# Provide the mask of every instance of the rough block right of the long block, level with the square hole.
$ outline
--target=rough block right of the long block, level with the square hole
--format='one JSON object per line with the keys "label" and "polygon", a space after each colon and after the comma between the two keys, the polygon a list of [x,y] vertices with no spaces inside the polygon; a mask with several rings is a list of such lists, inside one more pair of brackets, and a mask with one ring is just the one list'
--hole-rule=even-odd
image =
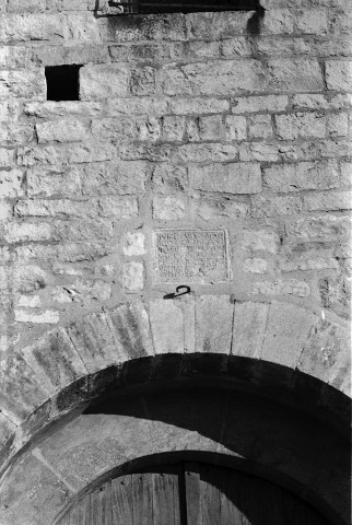
{"label": "rough block right of the long block, level with the square hole", "polygon": [[296,92],[324,90],[322,72],[318,60],[269,60],[267,74],[267,85],[272,90]]}

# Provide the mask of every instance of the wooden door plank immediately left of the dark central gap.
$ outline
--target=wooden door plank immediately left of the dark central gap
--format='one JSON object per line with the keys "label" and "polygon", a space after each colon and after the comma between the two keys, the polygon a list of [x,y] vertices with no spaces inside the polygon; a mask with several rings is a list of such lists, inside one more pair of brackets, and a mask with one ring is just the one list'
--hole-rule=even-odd
{"label": "wooden door plank immediately left of the dark central gap", "polygon": [[167,467],[153,474],[153,525],[180,525],[179,467]]}

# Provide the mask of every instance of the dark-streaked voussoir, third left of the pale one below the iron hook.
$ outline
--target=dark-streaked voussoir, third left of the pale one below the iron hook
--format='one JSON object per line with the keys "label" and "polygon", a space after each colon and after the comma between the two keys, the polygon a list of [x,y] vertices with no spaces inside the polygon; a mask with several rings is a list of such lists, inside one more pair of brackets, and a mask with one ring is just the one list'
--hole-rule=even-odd
{"label": "dark-streaked voussoir, third left of the pale one below the iron hook", "polygon": [[62,328],[24,348],[22,354],[51,394],[86,374],[79,353]]}

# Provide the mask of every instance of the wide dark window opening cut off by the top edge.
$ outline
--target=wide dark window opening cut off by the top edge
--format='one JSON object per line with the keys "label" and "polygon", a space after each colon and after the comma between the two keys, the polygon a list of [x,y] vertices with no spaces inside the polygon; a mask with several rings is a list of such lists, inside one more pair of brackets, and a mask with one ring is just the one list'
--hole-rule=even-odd
{"label": "wide dark window opening cut off by the top edge", "polygon": [[193,13],[199,11],[257,11],[258,0],[110,0],[124,14]]}

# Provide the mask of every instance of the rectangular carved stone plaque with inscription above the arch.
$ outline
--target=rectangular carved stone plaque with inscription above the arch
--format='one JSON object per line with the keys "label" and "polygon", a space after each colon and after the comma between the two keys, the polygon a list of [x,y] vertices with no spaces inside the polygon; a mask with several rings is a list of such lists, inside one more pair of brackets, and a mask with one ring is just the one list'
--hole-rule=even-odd
{"label": "rectangular carved stone plaque with inscription above the arch", "polygon": [[154,232],[157,282],[222,282],[228,279],[226,232],[160,230]]}

